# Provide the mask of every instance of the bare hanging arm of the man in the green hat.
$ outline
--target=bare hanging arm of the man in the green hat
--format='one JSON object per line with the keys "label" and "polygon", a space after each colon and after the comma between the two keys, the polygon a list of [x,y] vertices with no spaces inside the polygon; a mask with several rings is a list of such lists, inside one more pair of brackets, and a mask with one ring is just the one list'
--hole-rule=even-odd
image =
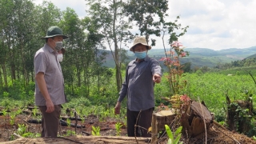
{"label": "bare hanging arm of the man in the green hat", "polygon": [[36,82],[38,83],[38,88],[42,93],[43,98],[46,99],[46,113],[51,113],[54,111],[54,103],[50,99],[50,95],[48,93],[47,87],[46,87],[46,81],[44,78],[44,74],[42,72],[39,72],[35,75]]}

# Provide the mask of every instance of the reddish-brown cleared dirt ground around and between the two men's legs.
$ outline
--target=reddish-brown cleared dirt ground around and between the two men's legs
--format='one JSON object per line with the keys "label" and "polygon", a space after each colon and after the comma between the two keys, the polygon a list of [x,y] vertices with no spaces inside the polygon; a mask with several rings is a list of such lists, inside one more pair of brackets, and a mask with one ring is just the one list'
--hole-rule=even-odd
{"label": "reddish-brown cleared dirt ground around and between the two men's legs", "polygon": [[[32,133],[40,133],[41,132],[41,124],[36,123],[29,123],[26,120],[30,119],[29,115],[27,114],[19,114],[15,118],[15,124],[13,126],[10,125],[10,117],[0,115],[0,142],[6,142],[11,140],[11,135],[14,133],[17,134],[18,124],[25,124],[28,126],[28,131]],[[71,123],[75,123],[74,120]],[[82,125],[84,127],[77,128],[76,134],[79,135],[90,135],[91,134],[91,127],[100,127],[100,134],[102,136],[116,136],[116,129],[115,129],[114,119],[109,118],[108,121],[100,122],[98,118],[94,115],[90,115],[86,118],[86,120],[82,123],[82,121],[78,121],[78,125]],[[73,126],[60,126],[59,127],[60,135],[63,136],[67,133],[67,130],[75,131]],[[122,132],[120,136],[126,136],[126,127],[122,126]],[[18,137],[14,137],[15,139]]]}

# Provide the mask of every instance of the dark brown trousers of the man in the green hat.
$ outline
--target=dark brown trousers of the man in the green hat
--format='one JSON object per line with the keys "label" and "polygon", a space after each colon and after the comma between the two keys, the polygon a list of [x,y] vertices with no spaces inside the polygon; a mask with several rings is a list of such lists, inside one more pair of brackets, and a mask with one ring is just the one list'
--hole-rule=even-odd
{"label": "dark brown trousers of the man in the green hat", "polygon": [[61,105],[54,105],[54,111],[46,113],[46,106],[38,106],[42,113],[41,137],[57,137]]}

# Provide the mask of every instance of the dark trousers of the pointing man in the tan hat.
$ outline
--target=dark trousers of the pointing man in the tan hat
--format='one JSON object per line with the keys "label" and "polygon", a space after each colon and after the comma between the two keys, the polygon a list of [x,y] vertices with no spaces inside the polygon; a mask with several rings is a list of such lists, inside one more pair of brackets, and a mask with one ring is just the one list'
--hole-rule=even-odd
{"label": "dark trousers of the pointing man in the tan hat", "polygon": [[[127,134],[128,137],[134,137],[134,132],[136,137],[147,137],[150,138],[151,134],[147,133],[152,122],[152,114],[154,107],[148,110],[130,111],[127,109]],[[138,118],[138,120],[137,120]],[[136,123],[137,121],[137,123]],[[136,126],[136,131],[134,131],[134,126]]]}

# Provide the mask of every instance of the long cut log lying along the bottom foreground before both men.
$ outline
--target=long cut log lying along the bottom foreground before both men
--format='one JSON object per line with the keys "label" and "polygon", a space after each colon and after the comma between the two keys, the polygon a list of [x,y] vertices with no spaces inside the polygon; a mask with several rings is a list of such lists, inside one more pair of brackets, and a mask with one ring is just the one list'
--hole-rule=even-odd
{"label": "long cut log lying along the bottom foreground before both men", "polygon": [[114,136],[81,136],[74,135],[69,137],[57,137],[57,138],[18,138],[14,141],[9,142],[0,142],[0,144],[10,144],[10,143],[22,143],[22,144],[91,144],[91,143],[113,143],[113,144],[137,144],[142,143],[146,144],[149,141],[149,138],[136,138],[134,137],[114,137]]}

